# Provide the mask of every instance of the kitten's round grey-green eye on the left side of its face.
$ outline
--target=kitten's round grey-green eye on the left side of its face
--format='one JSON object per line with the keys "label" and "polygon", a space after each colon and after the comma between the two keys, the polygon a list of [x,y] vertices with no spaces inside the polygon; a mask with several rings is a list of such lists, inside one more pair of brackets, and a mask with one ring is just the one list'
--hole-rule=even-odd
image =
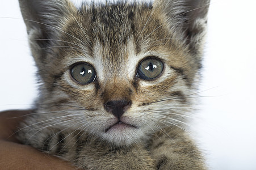
{"label": "kitten's round grey-green eye on the left side of its face", "polygon": [[88,63],[79,63],[70,69],[70,73],[75,81],[82,84],[91,83],[96,78],[93,66]]}

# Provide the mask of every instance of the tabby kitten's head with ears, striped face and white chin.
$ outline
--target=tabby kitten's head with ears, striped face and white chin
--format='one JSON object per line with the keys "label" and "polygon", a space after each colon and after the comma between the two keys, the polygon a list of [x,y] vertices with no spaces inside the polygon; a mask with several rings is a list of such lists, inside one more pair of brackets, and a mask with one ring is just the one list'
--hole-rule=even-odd
{"label": "tabby kitten's head with ears, striped face and white chin", "polygon": [[209,1],[19,2],[41,83],[37,112],[60,122],[47,124],[117,146],[183,126]]}

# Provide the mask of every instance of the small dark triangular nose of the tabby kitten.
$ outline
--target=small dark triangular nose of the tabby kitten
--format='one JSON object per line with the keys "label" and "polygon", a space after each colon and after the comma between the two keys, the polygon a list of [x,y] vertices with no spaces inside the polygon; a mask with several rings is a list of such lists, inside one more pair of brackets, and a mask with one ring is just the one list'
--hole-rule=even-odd
{"label": "small dark triangular nose of the tabby kitten", "polygon": [[115,117],[120,119],[125,111],[131,106],[131,101],[127,100],[112,100],[104,104],[104,108],[108,112],[112,112]]}

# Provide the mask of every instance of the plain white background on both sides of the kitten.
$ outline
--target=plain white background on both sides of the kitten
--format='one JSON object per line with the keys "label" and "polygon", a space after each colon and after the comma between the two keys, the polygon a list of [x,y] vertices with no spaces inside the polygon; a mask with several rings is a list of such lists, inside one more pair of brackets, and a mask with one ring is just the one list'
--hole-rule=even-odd
{"label": "plain white background on both sides of the kitten", "polygon": [[[256,1],[211,2],[192,129],[209,169],[256,169]],[[0,111],[30,108],[35,67],[18,1],[0,2]]]}

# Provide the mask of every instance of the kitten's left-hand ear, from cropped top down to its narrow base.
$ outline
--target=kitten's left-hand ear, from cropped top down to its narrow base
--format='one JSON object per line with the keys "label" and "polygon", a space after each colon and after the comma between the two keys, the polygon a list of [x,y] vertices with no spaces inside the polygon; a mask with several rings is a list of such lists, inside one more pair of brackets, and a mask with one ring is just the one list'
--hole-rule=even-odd
{"label": "kitten's left-hand ear, from cropped top down to its narrow base", "polygon": [[49,62],[47,47],[53,43],[49,39],[59,39],[65,20],[75,7],[69,0],[19,0],[19,5],[32,56],[39,70],[43,70]]}

